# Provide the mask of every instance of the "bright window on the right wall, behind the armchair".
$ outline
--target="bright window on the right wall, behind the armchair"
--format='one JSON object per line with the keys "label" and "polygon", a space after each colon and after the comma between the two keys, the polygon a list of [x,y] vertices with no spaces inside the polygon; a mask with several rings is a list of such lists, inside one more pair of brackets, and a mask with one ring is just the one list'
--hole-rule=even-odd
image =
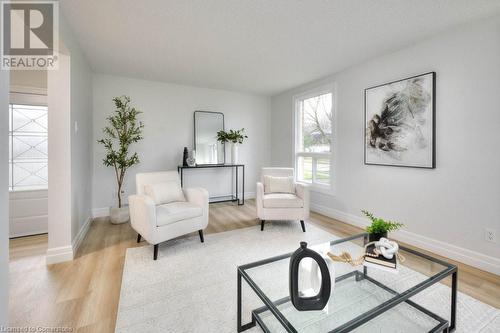
{"label": "bright window on the right wall, behind the armchair", "polygon": [[297,181],[332,190],[333,89],[295,99],[295,169]]}

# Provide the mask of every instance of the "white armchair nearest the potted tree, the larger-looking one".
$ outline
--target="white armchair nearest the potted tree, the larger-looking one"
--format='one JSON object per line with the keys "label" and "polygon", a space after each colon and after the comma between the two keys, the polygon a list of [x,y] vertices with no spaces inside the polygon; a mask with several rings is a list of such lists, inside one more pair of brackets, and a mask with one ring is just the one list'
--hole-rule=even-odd
{"label": "white armchair nearest the potted tree, the larger-looking one", "polygon": [[168,182],[176,185],[175,181],[180,184],[177,171],[138,173],[137,194],[129,196],[130,223],[138,233],[137,242],[139,243],[143,237],[154,245],[154,260],[158,257],[158,244],[169,239],[198,231],[201,242],[204,242],[203,229],[208,225],[207,190],[183,189],[186,201],[158,205],[151,196],[146,195],[148,185]]}

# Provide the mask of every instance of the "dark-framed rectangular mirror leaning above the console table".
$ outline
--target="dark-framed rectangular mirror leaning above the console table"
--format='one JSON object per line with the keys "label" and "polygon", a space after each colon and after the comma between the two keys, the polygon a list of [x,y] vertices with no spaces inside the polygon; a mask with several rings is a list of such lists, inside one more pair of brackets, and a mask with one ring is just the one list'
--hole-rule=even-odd
{"label": "dark-framed rectangular mirror leaning above the console table", "polygon": [[224,164],[224,144],[217,141],[217,132],[224,130],[224,114],[221,112],[194,112],[194,150],[196,164]]}

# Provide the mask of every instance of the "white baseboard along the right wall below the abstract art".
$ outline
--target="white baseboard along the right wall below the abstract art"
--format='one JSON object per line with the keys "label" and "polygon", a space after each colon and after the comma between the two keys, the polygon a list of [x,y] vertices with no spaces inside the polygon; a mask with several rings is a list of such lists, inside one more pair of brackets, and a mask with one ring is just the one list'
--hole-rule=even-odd
{"label": "white baseboard along the right wall below the abstract art", "polygon": [[[311,204],[311,210],[360,228],[365,228],[369,224],[368,221],[362,217],[345,213],[330,207]],[[391,237],[443,257],[500,275],[500,259],[498,258],[405,230],[391,233]]]}

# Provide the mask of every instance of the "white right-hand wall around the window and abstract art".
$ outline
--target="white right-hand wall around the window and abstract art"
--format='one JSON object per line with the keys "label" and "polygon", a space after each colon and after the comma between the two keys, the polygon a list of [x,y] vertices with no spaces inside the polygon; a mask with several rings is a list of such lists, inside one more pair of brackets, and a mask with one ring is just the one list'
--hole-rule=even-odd
{"label": "white right-hand wall around the window and abstract art", "polygon": [[[364,89],[435,71],[435,170],[363,164]],[[500,19],[445,32],[272,98],[272,163],[292,166],[292,96],[337,84],[336,195],[316,210],[363,224],[360,209],[406,224],[398,237],[500,274]],[[410,233],[408,233],[410,232]],[[443,243],[441,243],[443,242]]]}

